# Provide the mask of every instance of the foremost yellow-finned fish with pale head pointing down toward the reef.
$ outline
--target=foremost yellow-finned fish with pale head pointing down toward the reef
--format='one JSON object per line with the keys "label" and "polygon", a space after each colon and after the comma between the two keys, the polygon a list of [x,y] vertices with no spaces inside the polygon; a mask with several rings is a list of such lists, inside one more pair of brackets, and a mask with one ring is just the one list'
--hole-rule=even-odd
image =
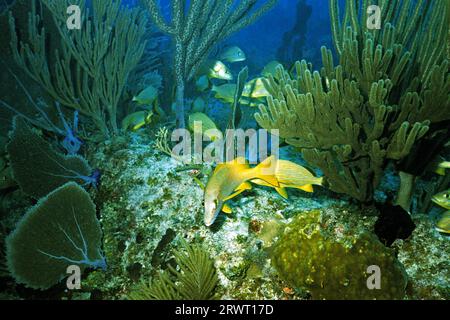
{"label": "foremost yellow-finned fish with pale head pointing down toward the reef", "polygon": [[205,187],[205,225],[211,226],[222,210],[226,213],[231,212],[225,202],[243,191],[251,189],[249,180],[260,179],[271,186],[278,187],[275,176],[264,172],[269,171],[270,166],[269,160],[250,168],[244,158],[218,164]]}

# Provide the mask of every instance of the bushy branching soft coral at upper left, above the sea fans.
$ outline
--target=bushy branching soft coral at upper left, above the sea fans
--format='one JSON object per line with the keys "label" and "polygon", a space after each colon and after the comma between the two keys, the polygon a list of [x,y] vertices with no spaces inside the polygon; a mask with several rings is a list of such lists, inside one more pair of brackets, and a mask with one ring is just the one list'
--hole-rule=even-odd
{"label": "bushy branching soft coral at upper left, above the sea fans", "polygon": [[[79,110],[103,136],[118,133],[117,109],[130,72],[144,52],[146,19],[120,1],[92,1],[86,16],[85,0],[43,0],[62,39],[54,65],[49,65],[49,37],[32,1],[28,34],[19,34],[10,14],[11,49],[17,64],[64,107]],[[67,28],[67,8],[81,8],[81,31]]]}

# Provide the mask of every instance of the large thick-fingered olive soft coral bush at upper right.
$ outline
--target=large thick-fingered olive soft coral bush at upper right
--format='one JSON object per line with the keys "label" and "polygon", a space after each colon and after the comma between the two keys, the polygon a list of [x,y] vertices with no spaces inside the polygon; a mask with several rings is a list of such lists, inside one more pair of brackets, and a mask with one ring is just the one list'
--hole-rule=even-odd
{"label": "large thick-fingered olive soft coral bush at upper right", "polygon": [[379,1],[383,28],[368,30],[366,7],[357,3],[346,2],[341,22],[330,0],[340,65],[322,48],[320,72],[306,61],[295,64],[295,75],[278,67],[255,118],[279,129],[333,191],[370,202],[387,160],[401,160],[430,123],[450,119],[449,24],[440,1]]}

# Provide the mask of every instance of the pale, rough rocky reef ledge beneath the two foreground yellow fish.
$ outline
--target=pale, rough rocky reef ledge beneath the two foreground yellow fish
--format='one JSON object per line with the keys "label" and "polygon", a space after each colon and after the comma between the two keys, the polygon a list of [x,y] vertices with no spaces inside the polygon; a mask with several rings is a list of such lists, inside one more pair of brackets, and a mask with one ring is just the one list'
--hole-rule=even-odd
{"label": "pale, rough rocky reef ledge beneath the two foreground yellow fish", "polygon": [[[148,135],[132,133],[107,141],[90,151],[89,161],[102,171],[94,197],[108,270],[90,272],[79,298],[127,298],[137,284],[148,283],[173,263],[171,252],[181,237],[202,243],[214,259],[219,298],[314,298],[311,290],[283,277],[279,266],[275,269],[282,260],[274,255],[282,247],[280,239],[292,232],[290,223],[314,217],[311,223],[324,231],[326,241],[351,247],[361,235],[371,234],[376,221],[375,209],[360,208],[324,189],[313,194],[290,189],[286,201],[273,190],[258,187],[236,198],[233,213],[221,214],[207,228],[202,222],[203,190],[191,172],[177,172],[179,163],[157,151]],[[406,272],[404,298],[448,299],[450,239],[435,231],[427,216],[414,221],[413,236],[387,249]],[[308,259],[319,259],[314,263],[320,264],[321,257],[313,256]],[[305,259],[298,257],[299,266]],[[274,260],[277,263],[271,263]]]}

